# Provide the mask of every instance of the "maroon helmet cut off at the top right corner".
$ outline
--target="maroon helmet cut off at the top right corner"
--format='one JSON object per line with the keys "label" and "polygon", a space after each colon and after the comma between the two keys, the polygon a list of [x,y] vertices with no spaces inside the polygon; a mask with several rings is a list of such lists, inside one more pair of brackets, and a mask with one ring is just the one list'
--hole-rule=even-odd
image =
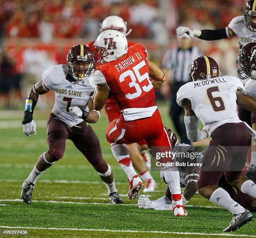
{"label": "maroon helmet cut off at the top right corner", "polygon": [[247,28],[256,31],[256,0],[247,1],[243,15]]}

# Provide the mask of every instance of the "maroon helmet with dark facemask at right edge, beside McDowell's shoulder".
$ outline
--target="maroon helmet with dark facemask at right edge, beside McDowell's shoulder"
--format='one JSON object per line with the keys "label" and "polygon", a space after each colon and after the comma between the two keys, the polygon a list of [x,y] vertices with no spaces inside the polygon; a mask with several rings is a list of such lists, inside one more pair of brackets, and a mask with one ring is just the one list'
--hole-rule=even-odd
{"label": "maroon helmet with dark facemask at right edge, beside McDowell's shoulder", "polygon": [[243,46],[237,57],[238,76],[241,79],[247,79],[251,76],[251,72],[256,70],[256,43],[248,43]]}

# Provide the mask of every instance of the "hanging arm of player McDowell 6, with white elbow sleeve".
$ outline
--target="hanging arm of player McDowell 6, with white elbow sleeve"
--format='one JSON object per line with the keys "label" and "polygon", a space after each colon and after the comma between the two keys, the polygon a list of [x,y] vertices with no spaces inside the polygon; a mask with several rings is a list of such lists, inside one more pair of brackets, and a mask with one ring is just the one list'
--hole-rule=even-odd
{"label": "hanging arm of player McDowell 6, with white elbow sleeve", "polygon": [[207,131],[199,130],[198,118],[191,109],[191,102],[188,99],[183,100],[184,105],[184,123],[189,141],[197,142],[205,139],[208,136]]}

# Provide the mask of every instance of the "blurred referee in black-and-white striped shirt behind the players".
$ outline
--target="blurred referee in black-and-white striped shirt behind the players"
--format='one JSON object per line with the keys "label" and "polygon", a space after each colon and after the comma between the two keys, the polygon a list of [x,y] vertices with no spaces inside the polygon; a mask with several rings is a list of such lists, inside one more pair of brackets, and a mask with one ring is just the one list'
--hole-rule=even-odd
{"label": "blurred referee in black-and-white striped shirt behind the players", "polygon": [[162,62],[162,68],[167,78],[172,72],[171,82],[171,108],[169,115],[171,116],[177,133],[181,138],[181,143],[190,144],[187,138],[184,121],[180,119],[180,115],[184,114],[184,110],[176,102],[177,92],[179,88],[189,82],[189,68],[192,61],[202,56],[202,52],[195,46],[192,46],[192,39],[185,33],[178,36],[179,47],[169,49]]}

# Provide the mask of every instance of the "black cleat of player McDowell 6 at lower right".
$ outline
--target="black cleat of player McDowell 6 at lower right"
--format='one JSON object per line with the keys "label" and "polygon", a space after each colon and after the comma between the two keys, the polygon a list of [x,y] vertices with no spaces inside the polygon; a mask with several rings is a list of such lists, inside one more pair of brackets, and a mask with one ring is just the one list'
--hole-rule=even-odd
{"label": "black cleat of player McDowell 6 at lower right", "polygon": [[246,209],[245,212],[234,215],[229,226],[223,231],[235,231],[238,230],[242,225],[249,223],[253,220],[253,215]]}

